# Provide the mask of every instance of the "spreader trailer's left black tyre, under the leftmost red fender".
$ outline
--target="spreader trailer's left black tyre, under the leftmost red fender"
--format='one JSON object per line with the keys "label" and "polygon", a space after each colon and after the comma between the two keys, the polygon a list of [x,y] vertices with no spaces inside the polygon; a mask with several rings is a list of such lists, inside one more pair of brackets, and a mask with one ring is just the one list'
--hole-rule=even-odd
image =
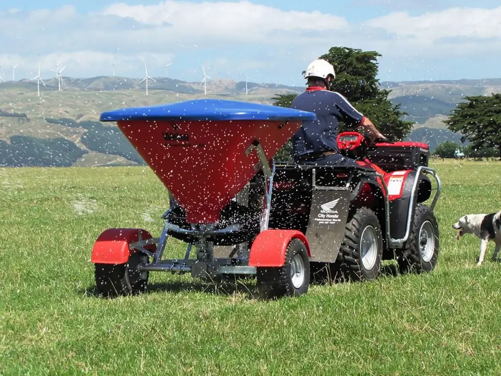
{"label": "spreader trailer's left black tyre, under the leftmost red fender", "polygon": [[147,263],[148,256],[136,252],[125,264],[95,264],[97,290],[105,296],[131,295],[146,291],[149,272],[138,272],[140,263]]}

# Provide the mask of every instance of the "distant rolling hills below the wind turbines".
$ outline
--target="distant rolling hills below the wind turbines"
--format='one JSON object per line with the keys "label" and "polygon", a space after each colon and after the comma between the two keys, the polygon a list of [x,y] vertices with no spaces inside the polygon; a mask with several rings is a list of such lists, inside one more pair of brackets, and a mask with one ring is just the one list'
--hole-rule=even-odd
{"label": "distant rolling hills below the wind turbines", "polygon": [[[20,80],[0,83],[0,166],[143,164],[142,158],[114,124],[99,122],[103,111],[205,98],[199,82],[155,77],[146,96],[141,79],[127,77],[63,77],[40,84]],[[501,92],[501,79],[382,82],[392,103],[415,122],[409,140],[459,143],[460,135],[442,122],[468,95]],[[280,93],[301,93],[304,86],[210,80],[207,97],[272,104]]]}

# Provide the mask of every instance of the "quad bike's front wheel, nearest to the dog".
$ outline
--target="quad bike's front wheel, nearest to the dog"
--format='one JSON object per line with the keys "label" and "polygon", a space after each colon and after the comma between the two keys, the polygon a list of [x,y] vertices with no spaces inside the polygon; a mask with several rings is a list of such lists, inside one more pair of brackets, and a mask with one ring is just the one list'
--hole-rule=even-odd
{"label": "quad bike's front wheel, nearest to the dog", "polygon": [[431,272],[438,261],[439,232],[433,211],[426,205],[418,204],[414,212],[409,243],[398,258],[401,274]]}

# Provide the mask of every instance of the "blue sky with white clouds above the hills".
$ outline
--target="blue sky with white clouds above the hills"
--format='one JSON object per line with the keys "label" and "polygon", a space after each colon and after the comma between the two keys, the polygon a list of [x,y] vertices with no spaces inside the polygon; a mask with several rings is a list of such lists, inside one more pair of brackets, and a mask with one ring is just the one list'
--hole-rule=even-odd
{"label": "blue sky with white clouds above the hills", "polygon": [[[335,7],[334,7],[335,5]],[[375,50],[379,79],[501,77],[496,0],[7,0],[0,6],[0,75],[165,75],[303,85],[332,46]]]}

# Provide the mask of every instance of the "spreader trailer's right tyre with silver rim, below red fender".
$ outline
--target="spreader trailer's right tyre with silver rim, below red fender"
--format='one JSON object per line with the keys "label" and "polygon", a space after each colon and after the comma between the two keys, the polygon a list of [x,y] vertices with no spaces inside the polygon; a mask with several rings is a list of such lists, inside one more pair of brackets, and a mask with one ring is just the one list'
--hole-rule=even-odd
{"label": "spreader trailer's right tyre with silver rim, below red fender", "polygon": [[292,239],[286,249],[284,266],[258,267],[256,277],[263,299],[306,294],[310,285],[310,258],[305,244]]}

